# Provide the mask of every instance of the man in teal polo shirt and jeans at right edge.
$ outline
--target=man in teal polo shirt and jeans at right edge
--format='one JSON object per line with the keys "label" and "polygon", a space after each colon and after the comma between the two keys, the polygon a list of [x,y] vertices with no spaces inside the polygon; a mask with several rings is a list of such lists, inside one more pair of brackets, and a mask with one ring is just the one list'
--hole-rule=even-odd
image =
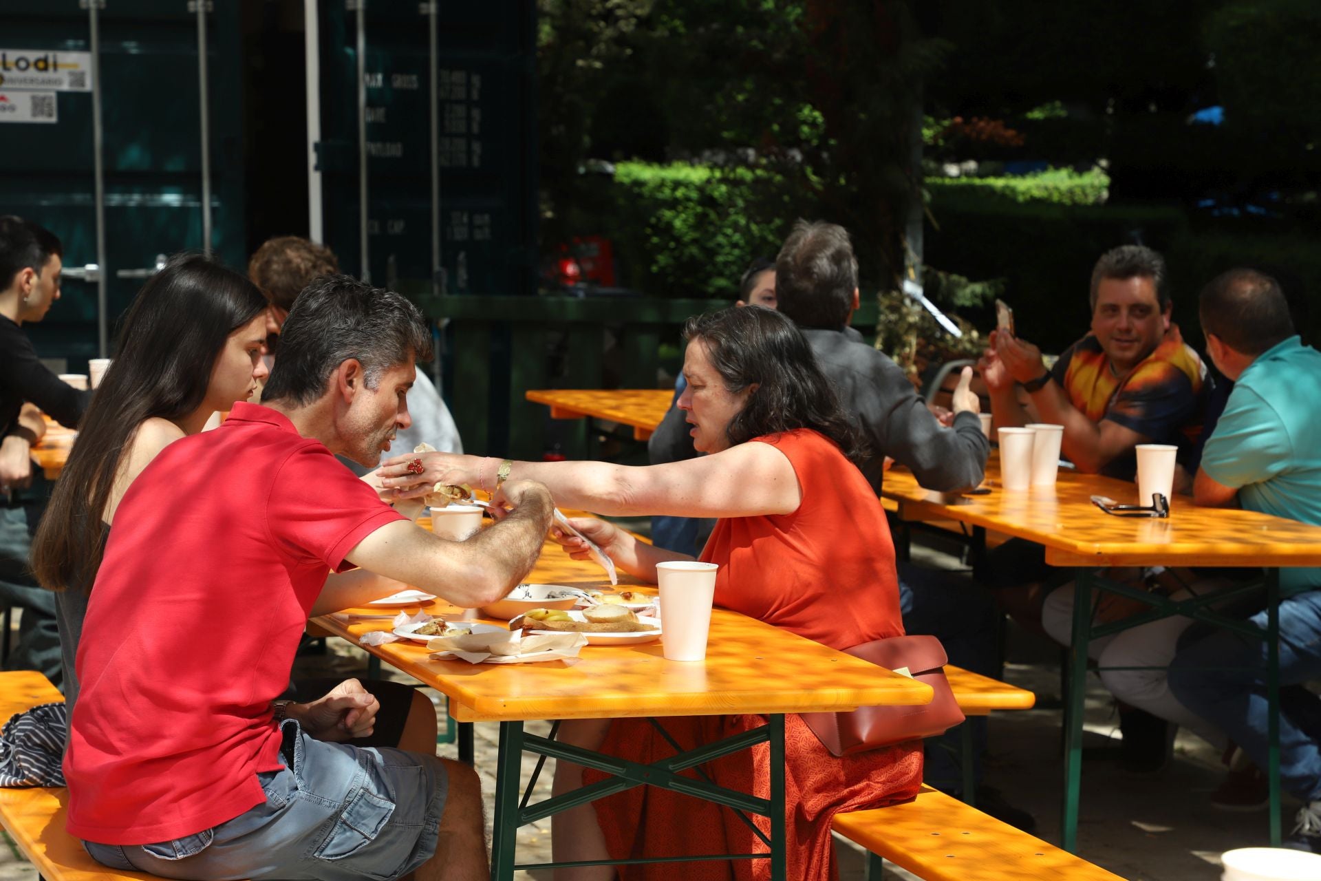
{"label": "man in teal polo shirt and jeans at right edge", "polygon": [[[1193,485],[1198,505],[1242,506],[1321,526],[1321,353],[1293,332],[1275,279],[1231,269],[1202,291],[1206,349],[1235,382]],[[1280,779],[1297,796],[1288,847],[1321,852],[1321,742],[1305,730],[1321,697],[1321,569],[1280,571]],[[1252,617],[1266,627],[1266,612]],[[1268,766],[1266,643],[1227,630],[1184,646],[1170,691]]]}

